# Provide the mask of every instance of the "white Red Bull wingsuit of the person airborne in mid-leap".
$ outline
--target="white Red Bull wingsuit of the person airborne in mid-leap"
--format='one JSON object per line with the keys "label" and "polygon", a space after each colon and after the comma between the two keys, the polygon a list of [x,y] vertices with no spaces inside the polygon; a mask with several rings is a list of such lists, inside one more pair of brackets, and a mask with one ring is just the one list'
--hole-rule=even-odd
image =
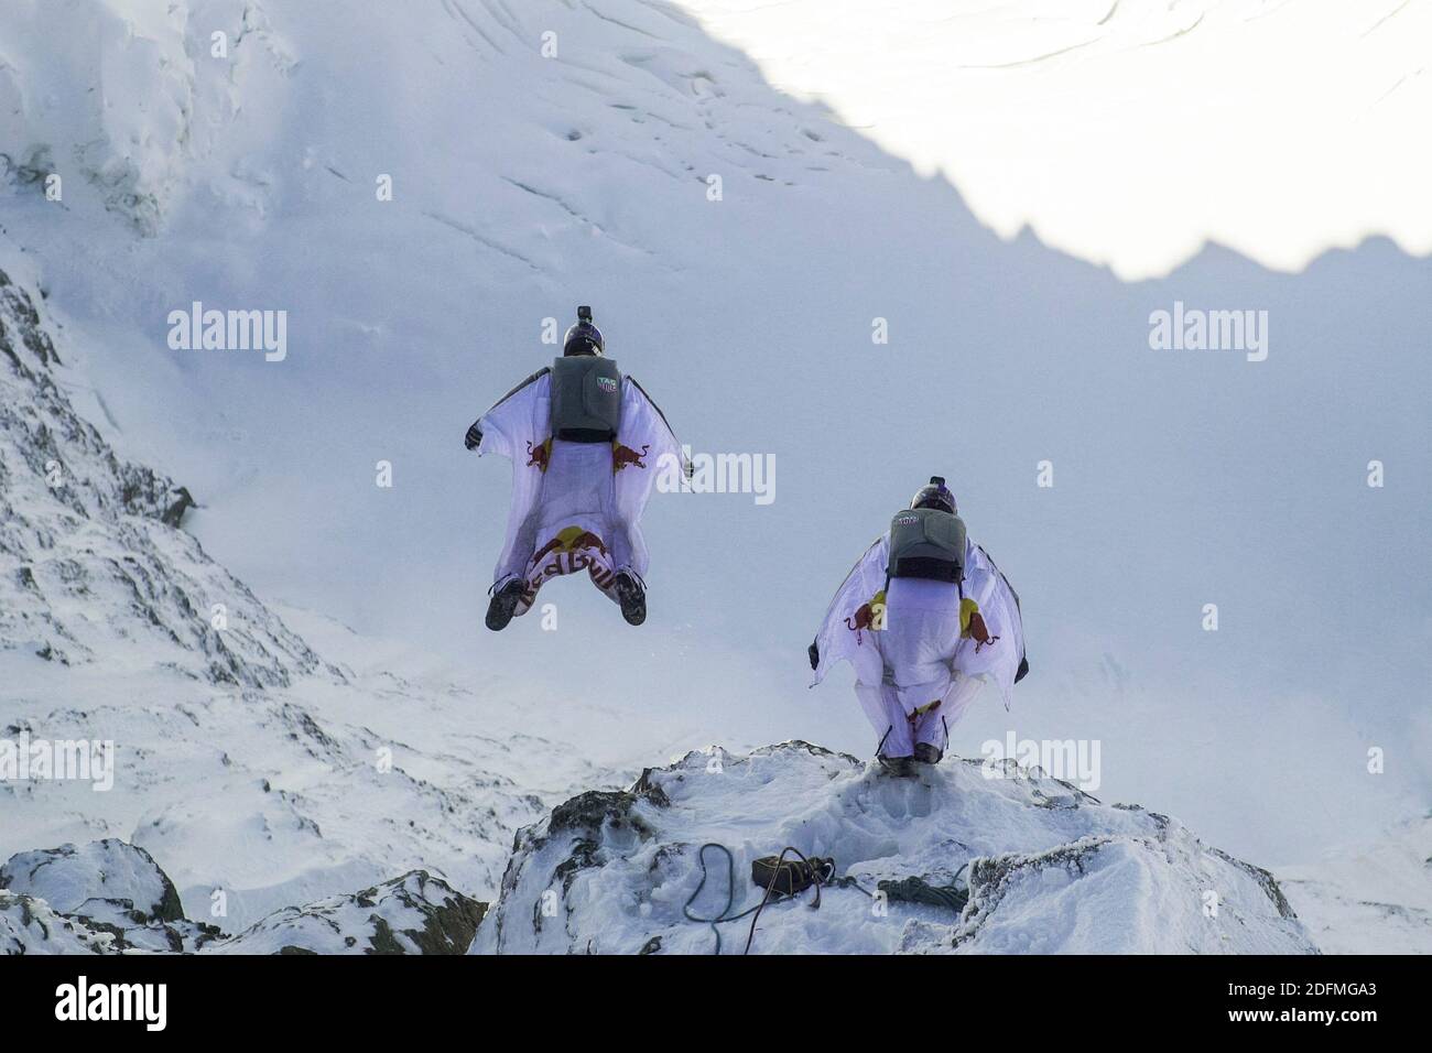
{"label": "white Red Bull wingsuit of the person airborne in mid-leap", "polygon": [[642,385],[621,378],[621,423],[611,443],[567,443],[551,434],[551,370],[543,368],[483,414],[478,456],[513,461],[513,504],[494,589],[521,577],[524,615],[543,583],[586,570],[613,602],[623,570],[646,574],[642,513],[656,470],[680,458],[666,417]]}

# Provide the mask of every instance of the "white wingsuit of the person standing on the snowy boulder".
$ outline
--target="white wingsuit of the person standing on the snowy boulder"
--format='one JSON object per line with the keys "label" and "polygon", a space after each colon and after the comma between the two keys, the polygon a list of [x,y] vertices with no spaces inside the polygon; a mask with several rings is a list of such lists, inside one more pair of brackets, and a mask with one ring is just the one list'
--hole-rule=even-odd
{"label": "white wingsuit of the person standing on the snowy boulder", "polygon": [[[911,756],[916,742],[944,752],[949,725],[987,681],[1010,708],[1024,665],[1020,600],[988,553],[969,540],[964,602],[961,585],[952,582],[892,577],[886,586],[888,563],[886,532],[831,600],[816,635],[819,662],[811,686],[848,660],[855,693],[881,736],[876,752]],[[971,635],[974,613],[984,619],[990,643]]]}

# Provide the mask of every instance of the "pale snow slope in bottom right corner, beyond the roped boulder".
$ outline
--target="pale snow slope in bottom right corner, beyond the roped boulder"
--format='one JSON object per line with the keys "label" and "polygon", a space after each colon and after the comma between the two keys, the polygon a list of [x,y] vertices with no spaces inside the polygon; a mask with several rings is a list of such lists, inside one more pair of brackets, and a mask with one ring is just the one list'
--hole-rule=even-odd
{"label": "pale snow slope in bottom right corner, beyond the roped boulder", "polygon": [[1277,877],[1323,951],[1432,954],[1432,815]]}

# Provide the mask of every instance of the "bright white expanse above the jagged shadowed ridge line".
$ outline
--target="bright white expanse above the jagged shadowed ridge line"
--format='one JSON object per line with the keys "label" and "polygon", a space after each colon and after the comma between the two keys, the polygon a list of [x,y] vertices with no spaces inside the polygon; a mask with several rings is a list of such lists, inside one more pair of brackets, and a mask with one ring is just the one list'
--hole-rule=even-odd
{"label": "bright white expanse above the jagged shadowed ridge line", "polygon": [[1432,252],[1432,0],[679,0],[1004,236],[1123,278]]}

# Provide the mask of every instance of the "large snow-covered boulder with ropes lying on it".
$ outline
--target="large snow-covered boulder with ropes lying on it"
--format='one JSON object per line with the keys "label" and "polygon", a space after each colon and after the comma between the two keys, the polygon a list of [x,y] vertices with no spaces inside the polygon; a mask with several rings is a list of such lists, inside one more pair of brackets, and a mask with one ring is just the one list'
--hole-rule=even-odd
{"label": "large snow-covered boulder with ropes lying on it", "polygon": [[[952,759],[898,779],[805,742],[693,752],[523,830],[473,953],[710,953],[710,927],[683,910],[758,905],[750,864],[786,845],[833,857],[835,881],[818,910],[811,893],[769,904],[756,951],[1315,953],[1267,871],[1166,815],[1014,765],[1000,772]],[[730,851],[735,888],[719,850],[703,864],[710,842]],[[961,887],[968,901],[876,895],[909,878]],[[723,925],[726,953],[749,924]]]}

